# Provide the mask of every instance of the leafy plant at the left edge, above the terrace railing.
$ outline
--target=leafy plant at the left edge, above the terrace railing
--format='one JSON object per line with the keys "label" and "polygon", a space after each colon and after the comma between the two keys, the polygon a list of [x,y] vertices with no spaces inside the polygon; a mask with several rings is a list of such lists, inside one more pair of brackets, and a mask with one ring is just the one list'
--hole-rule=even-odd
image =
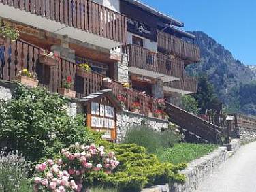
{"label": "leafy plant at the left edge, above the terrace railing", "polygon": [[0,46],[5,45],[7,39],[16,41],[19,36],[20,34],[18,30],[7,25],[0,26]]}

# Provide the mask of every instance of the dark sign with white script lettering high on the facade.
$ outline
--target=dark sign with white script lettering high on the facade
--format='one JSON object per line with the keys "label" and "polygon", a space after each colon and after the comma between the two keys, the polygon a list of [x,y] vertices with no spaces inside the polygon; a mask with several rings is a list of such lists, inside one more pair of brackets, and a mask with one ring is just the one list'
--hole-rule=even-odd
{"label": "dark sign with white script lettering high on the facade", "polygon": [[127,18],[127,28],[131,33],[136,33],[143,37],[151,38],[153,36],[151,27],[132,18]]}

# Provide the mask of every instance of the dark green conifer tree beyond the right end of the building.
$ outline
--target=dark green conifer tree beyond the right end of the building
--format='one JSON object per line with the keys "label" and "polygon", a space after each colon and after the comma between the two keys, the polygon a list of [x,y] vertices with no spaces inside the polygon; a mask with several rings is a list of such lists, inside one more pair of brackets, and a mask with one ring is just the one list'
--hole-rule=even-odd
{"label": "dark green conifer tree beyond the right end of the building", "polygon": [[208,82],[207,76],[199,76],[197,93],[193,97],[198,101],[200,114],[212,109],[212,106],[221,105],[221,101],[215,94],[214,86]]}

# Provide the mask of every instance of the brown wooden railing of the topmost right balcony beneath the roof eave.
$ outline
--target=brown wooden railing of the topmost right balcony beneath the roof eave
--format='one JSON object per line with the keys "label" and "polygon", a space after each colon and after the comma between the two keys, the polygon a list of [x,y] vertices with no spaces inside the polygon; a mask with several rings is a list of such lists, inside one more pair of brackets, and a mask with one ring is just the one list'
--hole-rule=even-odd
{"label": "brown wooden railing of the topmost right balcony beneath the roof eave", "polygon": [[197,46],[162,31],[157,35],[157,48],[163,52],[176,54],[189,63],[196,63],[200,59]]}

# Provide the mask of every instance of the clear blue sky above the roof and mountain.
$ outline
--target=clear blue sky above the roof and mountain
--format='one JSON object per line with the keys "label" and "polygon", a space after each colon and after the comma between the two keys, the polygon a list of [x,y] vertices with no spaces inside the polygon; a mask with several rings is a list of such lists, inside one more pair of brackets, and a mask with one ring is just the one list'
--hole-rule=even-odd
{"label": "clear blue sky above the roof and mountain", "polygon": [[182,22],[185,30],[204,31],[245,65],[256,65],[255,0],[142,0]]}

